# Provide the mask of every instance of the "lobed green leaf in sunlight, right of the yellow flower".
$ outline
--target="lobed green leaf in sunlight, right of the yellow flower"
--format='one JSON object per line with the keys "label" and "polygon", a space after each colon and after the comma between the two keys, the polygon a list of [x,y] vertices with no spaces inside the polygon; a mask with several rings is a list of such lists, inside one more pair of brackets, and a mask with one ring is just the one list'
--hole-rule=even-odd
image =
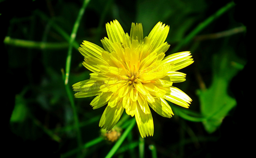
{"label": "lobed green leaf in sunlight, right of the yellow flower", "polygon": [[228,95],[228,85],[239,69],[233,66],[234,53],[224,50],[213,57],[213,79],[206,90],[199,90],[203,125],[208,133],[217,130],[228,112],[236,106],[236,100]]}

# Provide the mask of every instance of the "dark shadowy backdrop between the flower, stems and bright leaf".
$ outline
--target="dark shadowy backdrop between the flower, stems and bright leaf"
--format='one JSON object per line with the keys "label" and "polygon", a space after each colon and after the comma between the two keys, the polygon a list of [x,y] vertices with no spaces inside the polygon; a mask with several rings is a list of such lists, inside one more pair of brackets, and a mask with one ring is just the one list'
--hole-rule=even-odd
{"label": "dark shadowy backdrop between the flower, stems and bright leaf", "polygon": [[[169,51],[177,45],[199,23],[207,19],[230,1],[91,1],[80,23],[76,41],[90,41],[99,46],[100,39],[107,36],[105,23],[117,19],[125,32],[130,31],[132,22],[141,22],[144,36],[158,21],[170,25],[166,41],[171,45]],[[228,37],[201,41],[193,47],[195,41],[184,45],[180,51],[191,50],[194,63],[181,70],[187,74],[187,81],[179,83],[192,99],[191,110],[200,113],[202,106],[197,90],[199,85],[196,72],[201,74],[206,88],[210,87],[213,70],[211,62],[214,54],[221,55],[225,48],[232,48],[232,55],[241,60],[243,69],[228,82],[228,95],[236,100],[214,132],[207,132],[201,122],[174,115],[163,118],[152,112],[155,126],[153,137],[145,138],[145,157],[151,157],[147,148],[154,144],[158,157],[216,157],[243,156],[253,154],[254,130],[254,96],[253,65],[254,60],[254,22],[252,4],[248,0],[234,1],[236,6],[228,10],[199,35],[211,34],[245,26],[246,32]],[[68,48],[37,49],[20,47],[4,43],[6,36],[13,39],[44,42],[67,42],[52,29],[50,20],[61,26],[69,35],[72,31],[82,1],[0,1],[2,68],[4,69],[3,86],[3,127],[4,153],[26,157],[60,157],[76,148],[74,130],[58,132],[58,128],[73,125],[73,114],[67,97],[61,69],[65,69]],[[196,9],[191,9],[196,8]],[[40,11],[39,13],[37,11]],[[38,14],[47,15],[47,21]],[[47,29],[47,27],[50,27]],[[166,52],[168,54],[168,51]],[[220,59],[221,60],[221,59]],[[89,71],[81,66],[82,56],[73,49],[70,84],[89,79]],[[239,62],[239,60],[238,60]],[[93,97],[92,97],[93,98]],[[75,99],[79,120],[86,122],[93,116],[101,116],[104,108],[93,110],[89,105],[92,98]],[[19,112],[11,114],[15,106]],[[178,109],[176,105],[171,105]],[[174,111],[175,112],[175,111]],[[98,122],[81,128],[82,142],[86,143],[99,136]],[[10,121],[11,120],[11,121]],[[54,131],[61,139],[56,141],[47,130]],[[192,138],[187,131],[193,131]],[[139,140],[137,126],[133,129],[133,141]],[[197,141],[194,139],[196,138]],[[182,141],[186,143],[181,143]],[[125,140],[126,141],[126,140]],[[124,142],[124,144],[127,142]],[[129,143],[129,141],[128,141]],[[89,148],[87,157],[104,157],[113,144],[100,142]],[[88,151],[88,149],[87,149]],[[139,157],[138,147],[133,151]],[[4,154],[3,153],[3,154]],[[123,152],[115,157],[130,157]],[[71,156],[71,157],[74,157]]]}

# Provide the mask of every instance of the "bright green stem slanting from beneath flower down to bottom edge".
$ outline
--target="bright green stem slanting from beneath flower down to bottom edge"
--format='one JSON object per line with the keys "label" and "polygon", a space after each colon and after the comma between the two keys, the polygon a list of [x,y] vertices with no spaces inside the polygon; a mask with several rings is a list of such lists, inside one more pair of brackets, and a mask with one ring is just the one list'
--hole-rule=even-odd
{"label": "bright green stem slanting from beneath flower down to bottom edge", "polygon": [[128,128],[123,132],[121,137],[117,140],[116,144],[113,146],[113,148],[108,152],[107,156],[105,158],[111,158],[117,149],[120,147],[120,145],[123,143],[124,139],[127,137],[128,133],[133,129],[133,126],[135,125],[135,118],[133,118],[131,124],[128,126]]}

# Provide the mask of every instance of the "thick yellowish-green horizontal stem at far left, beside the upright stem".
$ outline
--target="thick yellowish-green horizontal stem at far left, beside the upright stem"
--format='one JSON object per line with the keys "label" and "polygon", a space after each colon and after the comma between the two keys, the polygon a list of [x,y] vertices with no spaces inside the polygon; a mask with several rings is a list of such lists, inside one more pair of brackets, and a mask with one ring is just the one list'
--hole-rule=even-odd
{"label": "thick yellowish-green horizontal stem at far left, beside the upright stem", "polygon": [[4,43],[11,46],[35,48],[35,49],[63,49],[69,46],[67,42],[59,42],[59,43],[35,42],[35,41],[29,41],[29,40],[14,39],[9,36],[5,37]]}

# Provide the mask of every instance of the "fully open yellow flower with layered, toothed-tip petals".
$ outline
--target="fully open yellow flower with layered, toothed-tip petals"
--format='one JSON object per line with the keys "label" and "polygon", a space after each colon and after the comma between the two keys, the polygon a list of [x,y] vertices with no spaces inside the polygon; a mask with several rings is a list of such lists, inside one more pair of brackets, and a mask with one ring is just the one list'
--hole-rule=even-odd
{"label": "fully open yellow flower with layered, toothed-tip petals", "polygon": [[143,38],[142,25],[132,23],[130,36],[124,33],[117,20],[106,24],[108,38],[101,40],[104,47],[83,41],[78,48],[84,56],[83,65],[91,70],[90,79],[75,83],[75,97],[96,96],[93,109],[106,104],[99,126],[111,130],[124,109],[135,115],[141,137],[153,135],[154,124],[149,106],[164,117],[173,112],[166,100],[188,108],[192,101],[173,83],[185,81],[184,73],[177,72],[193,63],[190,52],[165,56],[169,44],[164,42],[169,26],[161,22]]}

